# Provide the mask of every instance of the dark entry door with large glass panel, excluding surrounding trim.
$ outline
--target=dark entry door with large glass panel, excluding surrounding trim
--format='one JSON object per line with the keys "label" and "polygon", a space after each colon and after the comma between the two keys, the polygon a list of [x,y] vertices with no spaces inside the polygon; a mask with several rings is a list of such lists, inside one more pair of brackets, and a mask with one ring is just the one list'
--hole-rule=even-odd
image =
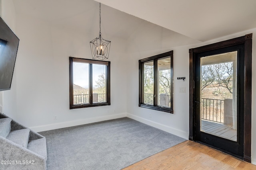
{"label": "dark entry door with large glass panel, excluding surrounding trim", "polygon": [[244,47],[195,55],[195,140],[243,157]]}

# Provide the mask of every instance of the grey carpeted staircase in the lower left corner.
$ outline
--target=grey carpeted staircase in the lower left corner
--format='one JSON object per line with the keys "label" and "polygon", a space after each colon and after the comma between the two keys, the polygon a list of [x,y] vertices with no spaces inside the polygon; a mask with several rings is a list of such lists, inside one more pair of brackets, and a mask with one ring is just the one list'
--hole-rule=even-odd
{"label": "grey carpeted staircase in the lower left corner", "polygon": [[46,139],[0,113],[0,169],[46,170]]}

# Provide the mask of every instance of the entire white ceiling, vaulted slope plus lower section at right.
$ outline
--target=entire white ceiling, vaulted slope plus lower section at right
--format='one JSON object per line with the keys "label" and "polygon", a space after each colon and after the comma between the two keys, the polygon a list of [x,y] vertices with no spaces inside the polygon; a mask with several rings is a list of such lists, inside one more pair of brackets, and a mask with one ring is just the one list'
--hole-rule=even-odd
{"label": "entire white ceiling, vaulted slope plus lower section at right", "polygon": [[[256,0],[97,0],[104,39],[145,34],[171,47],[207,41],[256,27]],[[94,0],[13,0],[17,15],[60,27],[99,33]],[[116,9],[115,9],[116,8]],[[146,30],[147,32],[145,33]],[[163,38],[164,37],[164,38]]]}

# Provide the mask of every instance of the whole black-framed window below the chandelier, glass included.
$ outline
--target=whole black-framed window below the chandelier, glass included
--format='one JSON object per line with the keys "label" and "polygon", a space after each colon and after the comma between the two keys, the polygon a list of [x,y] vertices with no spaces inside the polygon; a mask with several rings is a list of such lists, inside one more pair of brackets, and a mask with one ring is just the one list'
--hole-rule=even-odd
{"label": "whole black-framed window below the chandelier, glass included", "polygon": [[69,57],[70,109],[110,105],[110,61]]}

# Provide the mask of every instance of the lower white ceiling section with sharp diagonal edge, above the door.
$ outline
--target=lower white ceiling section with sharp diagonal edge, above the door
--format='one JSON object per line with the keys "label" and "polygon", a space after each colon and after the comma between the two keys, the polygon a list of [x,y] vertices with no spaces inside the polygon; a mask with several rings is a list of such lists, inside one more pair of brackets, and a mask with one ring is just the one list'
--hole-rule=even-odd
{"label": "lower white ceiling section with sharp diagonal edge, above the door", "polygon": [[256,27],[256,0],[97,0],[193,39]]}

